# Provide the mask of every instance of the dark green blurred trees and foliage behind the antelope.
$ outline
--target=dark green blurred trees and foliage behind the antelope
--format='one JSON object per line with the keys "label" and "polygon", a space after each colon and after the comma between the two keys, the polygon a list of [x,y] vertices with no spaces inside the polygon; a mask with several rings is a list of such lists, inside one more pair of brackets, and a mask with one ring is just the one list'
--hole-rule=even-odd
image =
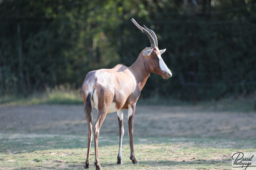
{"label": "dark green blurred trees and foliage behind the antelope", "polygon": [[198,100],[255,92],[254,1],[1,2],[1,94],[80,88],[89,71],[132,65],[149,41],[131,18],[155,31],[173,70],[168,81],[151,75],[142,97],[191,100],[194,86]]}

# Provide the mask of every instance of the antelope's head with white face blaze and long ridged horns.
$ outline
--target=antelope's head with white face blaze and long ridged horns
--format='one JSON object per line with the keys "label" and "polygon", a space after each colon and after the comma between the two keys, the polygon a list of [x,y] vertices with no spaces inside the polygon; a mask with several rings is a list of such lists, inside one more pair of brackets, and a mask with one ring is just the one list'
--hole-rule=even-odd
{"label": "antelope's head with white face blaze and long ridged horns", "polygon": [[166,49],[159,50],[157,45],[157,37],[154,31],[148,29],[146,26],[145,28],[141,27],[133,18],[131,19],[132,22],[137,26],[142,33],[145,33],[150,41],[151,47],[145,48],[141,53],[144,59],[144,65],[147,70],[152,73],[158,74],[163,78],[170,78],[172,77],[172,72],[168,69],[164,60],[162,59],[161,55],[165,52]]}

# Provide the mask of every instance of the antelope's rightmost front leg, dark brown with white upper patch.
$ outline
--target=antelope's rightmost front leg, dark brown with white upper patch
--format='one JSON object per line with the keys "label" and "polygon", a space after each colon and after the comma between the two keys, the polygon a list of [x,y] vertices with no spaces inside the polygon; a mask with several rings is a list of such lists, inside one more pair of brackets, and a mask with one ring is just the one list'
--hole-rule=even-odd
{"label": "antelope's rightmost front leg, dark brown with white upper patch", "polygon": [[130,137],[130,159],[132,160],[133,164],[138,164],[138,161],[136,160],[134,156],[133,151],[133,117],[135,113],[135,104],[132,106],[128,105],[128,129],[129,129],[129,137]]}

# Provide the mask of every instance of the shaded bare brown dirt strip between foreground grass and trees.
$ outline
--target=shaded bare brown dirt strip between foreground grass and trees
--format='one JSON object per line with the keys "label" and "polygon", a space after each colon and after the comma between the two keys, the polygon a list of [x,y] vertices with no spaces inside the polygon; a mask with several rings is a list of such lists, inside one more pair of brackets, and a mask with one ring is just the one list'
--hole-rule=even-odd
{"label": "shaded bare brown dirt strip between foreground grass and trees", "polygon": [[[83,109],[82,105],[0,105],[0,133],[87,136],[87,122],[81,122]],[[96,118],[94,109],[93,122]],[[134,136],[255,139],[255,120],[255,113],[221,112],[202,106],[137,105]],[[124,130],[127,135],[127,111]],[[118,135],[116,112],[106,116],[100,135]]]}

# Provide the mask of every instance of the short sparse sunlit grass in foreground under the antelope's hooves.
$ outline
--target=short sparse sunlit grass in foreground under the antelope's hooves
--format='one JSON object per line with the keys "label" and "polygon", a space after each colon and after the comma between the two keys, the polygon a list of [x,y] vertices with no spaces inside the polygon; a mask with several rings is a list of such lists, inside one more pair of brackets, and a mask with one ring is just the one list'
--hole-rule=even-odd
{"label": "short sparse sunlit grass in foreground under the antelope's hooves", "polygon": [[[231,152],[255,152],[256,139],[134,138],[139,165],[129,160],[129,138],[123,140],[123,165],[116,165],[117,136],[99,139],[102,169],[230,169]],[[4,169],[83,169],[87,137],[79,135],[1,134],[0,167]],[[94,169],[94,146],[90,156]]]}

